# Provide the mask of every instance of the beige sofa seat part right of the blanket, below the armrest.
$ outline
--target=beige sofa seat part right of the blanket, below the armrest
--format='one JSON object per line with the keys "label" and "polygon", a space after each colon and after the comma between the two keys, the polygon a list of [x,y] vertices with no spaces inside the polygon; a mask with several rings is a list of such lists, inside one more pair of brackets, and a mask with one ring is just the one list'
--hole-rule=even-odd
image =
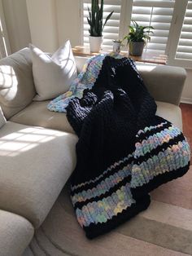
{"label": "beige sofa seat part right of the blanket, below the armrest", "polygon": [[181,108],[176,105],[168,104],[160,101],[156,101],[157,112],[156,115],[164,117],[168,121],[171,121],[173,125],[182,130],[182,117]]}

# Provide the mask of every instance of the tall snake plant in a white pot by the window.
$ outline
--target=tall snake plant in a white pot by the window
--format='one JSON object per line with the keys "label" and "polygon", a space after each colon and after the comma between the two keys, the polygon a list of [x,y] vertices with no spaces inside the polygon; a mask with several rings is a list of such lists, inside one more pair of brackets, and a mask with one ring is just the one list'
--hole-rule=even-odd
{"label": "tall snake plant in a white pot by the window", "polygon": [[91,10],[88,7],[89,17],[87,21],[89,23],[89,44],[90,51],[98,52],[100,50],[101,44],[103,42],[103,29],[107,24],[107,20],[111,18],[113,11],[109,15],[103,24],[103,0],[99,5],[99,0],[91,1]]}

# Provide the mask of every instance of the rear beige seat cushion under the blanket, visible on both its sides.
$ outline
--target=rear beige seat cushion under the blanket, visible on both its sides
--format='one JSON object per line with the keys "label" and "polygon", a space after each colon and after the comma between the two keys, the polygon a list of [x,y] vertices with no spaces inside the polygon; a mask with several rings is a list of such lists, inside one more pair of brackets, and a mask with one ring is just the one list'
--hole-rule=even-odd
{"label": "rear beige seat cushion under the blanket, visible on both its sides", "polygon": [[[15,121],[27,126],[41,126],[55,130],[63,130],[75,134],[65,113],[50,112],[50,110],[46,108],[49,102],[50,101],[33,102],[27,108],[20,111],[20,113],[11,117],[10,121]],[[173,104],[160,101],[156,103],[157,114],[182,129],[181,109]]]}

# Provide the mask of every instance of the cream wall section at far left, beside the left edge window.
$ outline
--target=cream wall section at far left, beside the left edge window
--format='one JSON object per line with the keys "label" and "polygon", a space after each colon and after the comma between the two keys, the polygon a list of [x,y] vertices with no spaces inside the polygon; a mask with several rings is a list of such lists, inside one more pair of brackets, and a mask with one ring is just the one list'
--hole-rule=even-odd
{"label": "cream wall section at far left, beside the left edge window", "polygon": [[31,42],[25,0],[2,0],[11,52],[18,51]]}

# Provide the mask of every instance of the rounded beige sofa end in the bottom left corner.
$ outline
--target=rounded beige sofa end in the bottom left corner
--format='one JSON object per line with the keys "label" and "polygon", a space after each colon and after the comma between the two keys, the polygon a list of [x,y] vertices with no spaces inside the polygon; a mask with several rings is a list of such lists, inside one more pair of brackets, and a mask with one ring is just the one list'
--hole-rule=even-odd
{"label": "rounded beige sofa end in the bottom left corner", "polygon": [[20,256],[33,237],[34,228],[26,218],[0,210],[0,255]]}

